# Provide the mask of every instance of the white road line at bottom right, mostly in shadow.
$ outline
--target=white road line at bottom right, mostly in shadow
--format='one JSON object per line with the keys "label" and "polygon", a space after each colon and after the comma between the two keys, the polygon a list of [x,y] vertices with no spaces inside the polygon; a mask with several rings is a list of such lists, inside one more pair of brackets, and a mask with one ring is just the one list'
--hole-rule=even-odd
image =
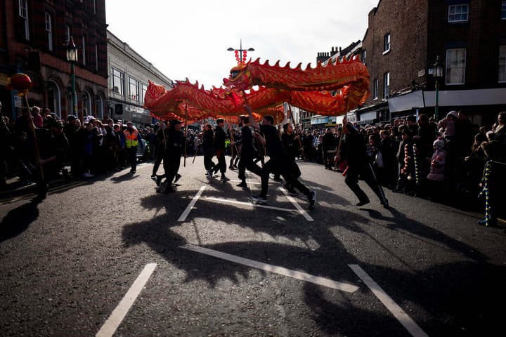
{"label": "white road line at bottom right, mostly in shadow", "polygon": [[359,265],[349,265],[349,267],[355,272],[358,277],[362,279],[362,281],[369,287],[372,293],[383,303],[385,307],[396,317],[396,319],[401,322],[401,324],[411,333],[411,336],[415,337],[428,337],[427,333],[425,333],[418,324],[409,317],[401,307],[391,299],[390,296],[387,295],[381,289],[381,287],[369,276],[367,273],[359,266]]}

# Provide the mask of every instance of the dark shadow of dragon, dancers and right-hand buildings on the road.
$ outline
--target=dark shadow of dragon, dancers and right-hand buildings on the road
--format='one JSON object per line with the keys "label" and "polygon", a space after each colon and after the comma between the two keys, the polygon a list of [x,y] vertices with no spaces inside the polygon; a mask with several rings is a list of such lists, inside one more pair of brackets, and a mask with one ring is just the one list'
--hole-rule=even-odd
{"label": "dark shadow of dragon, dancers and right-hand buildings on the road", "polygon": [[[223,197],[227,190],[233,190],[224,184],[221,190],[207,190],[207,197]],[[325,193],[325,192],[323,192]],[[176,219],[181,210],[185,209],[194,191],[181,191],[171,195],[152,195],[142,200],[146,209],[156,209],[157,216],[141,223],[131,223],[124,226],[123,241],[126,246],[148,244],[153,251],[162,258],[186,272],[186,282],[202,280],[215,287],[221,279],[239,284],[240,280],[250,277],[251,267],[230,263],[212,256],[197,254],[180,248],[193,243],[171,227],[180,226]],[[340,199],[338,199],[338,202]],[[259,221],[256,212],[259,210],[238,211],[237,206],[220,204],[219,211],[209,213],[209,205],[202,198],[195,204],[192,212],[205,213],[209,223],[226,223],[231,228],[240,226],[254,232],[268,234],[278,242],[220,242],[217,244],[202,244],[199,239],[199,228],[193,220],[188,219],[185,225],[194,227],[199,245],[234,256],[257,260],[269,265],[278,265],[291,270],[307,272],[311,275],[326,277],[338,282],[361,284],[353,273],[349,264],[361,265],[368,275],[391,296],[391,298],[406,310],[408,315],[418,319],[417,324],[429,336],[484,336],[483,331],[498,331],[500,329],[501,314],[495,308],[506,303],[506,292],[503,290],[506,282],[506,267],[487,263],[488,258],[458,239],[424,225],[417,220],[406,217],[405,214],[391,209],[391,215],[384,215],[374,209],[360,211],[339,209],[339,215],[332,221],[320,221],[308,225],[294,214],[277,216],[276,211],[261,210],[273,214],[269,221]],[[210,202],[210,201],[209,201]],[[342,201],[346,204],[346,201]],[[283,204],[283,203],[281,203]],[[283,205],[278,205],[281,206]],[[173,210],[178,210],[174,213]],[[318,206],[313,213],[332,214],[330,207]],[[299,218],[297,218],[299,217]],[[378,220],[375,223],[375,220]],[[198,226],[205,226],[200,223]],[[336,229],[336,227],[338,227]],[[349,243],[342,242],[336,233],[349,230],[361,235],[363,242],[375,242],[376,251],[368,251],[369,246],[358,243],[354,249],[365,251],[349,251]],[[201,228],[203,229],[203,228]],[[395,237],[389,245],[388,240],[380,240],[381,235],[387,238]],[[409,237],[409,241],[406,239]],[[279,241],[316,242],[316,248],[310,246],[294,246]],[[415,256],[431,260],[437,258],[432,255],[432,249],[439,250],[439,254],[453,254],[461,256],[456,263],[427,263],[432,267],[422,269],[413,265],[408,256],[403,256],[400,247],[403,240],[416,246],[420,242],[420,249],[413,251]],[[195,244],[195,243],[193,243]],[[379,248],[378,248],[379,247]],[[409,251],[409,249],[408,249]],[[445,252],[446,251],[446,252]],[[395,259],[397,267],[385,267],[384,259],[376,260],[374,254],[385,254]],[[410,256],[412,257],[412,256]],[[446,261],[443,258],[443,261]],[[422,261],[423,262],[423,261]],[[266,276],[266,272],[260,271]],[[306,308],[292,308],[294,312],[287,312],[287,317],[307,317],[318,324],[322,331],[329,334],[346,336],[403,336],[408,332],[388,312],[382,303],[375,298],[364,284],[353,295],[326,289],[305,282],[302,286],[301,300]],[[291,296],[297,297],[297,293]],[[373,308],[368,308],[372,305]],[[307,309],[312,315],[306,315]],[[289,309],[287,309],[289,310]],[[304,316],[306,315],[306,316]],[[290,319],[290,318],[286,318]],[[312,321],[312,322],[311,322]],[[421,321],[421,322],[420,322]],[[292,322],[293,323],[293,322]],[[290,324],[290,323],[289,323]],[[378,326],[377,331],[371,331],[371,326]]]}

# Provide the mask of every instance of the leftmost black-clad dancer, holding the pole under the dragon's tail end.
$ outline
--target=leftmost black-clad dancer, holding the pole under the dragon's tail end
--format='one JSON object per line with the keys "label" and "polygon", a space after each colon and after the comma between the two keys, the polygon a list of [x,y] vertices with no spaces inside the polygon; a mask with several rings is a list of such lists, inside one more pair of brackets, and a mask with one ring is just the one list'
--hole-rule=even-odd
{"label": "leftmost black-clad dancer, holding the pole under the dragon's tail end", "polygon": [[181,131],[181,121],[177,119],[170,121],[170,126],[165,131],[165,137],[167,139],[163,158],[165,173],[162,176],[157,176],[157,185],[160,185],[163,178],[167,178],[167,187],[164,192],[173,193],[176,191],[172,188],[172,181],[179,171],[183,144],[186,141],[186,135]]}

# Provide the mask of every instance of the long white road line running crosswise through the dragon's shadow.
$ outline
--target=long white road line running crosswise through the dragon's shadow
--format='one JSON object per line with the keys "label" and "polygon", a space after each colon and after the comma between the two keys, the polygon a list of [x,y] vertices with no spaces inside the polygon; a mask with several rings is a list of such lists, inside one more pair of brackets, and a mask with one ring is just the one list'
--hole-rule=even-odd
{"label": "long white road line running crosswise through the dragon's shadow", "polygon": [[234,263],[239,263],[240,265],[247,265],[249,267],[254,267],[259,270],[265,270],[266,272],[273,272],[278,275],[292,277],[294,279],[300,279],[301,281],[304,282],[319,284],[320,286],[326,286],[332,289],[347,291],[349,293],[353,293],[354,291],[358,290],[358,286],[353,286],[353,284],[336,282],[332,281],[332,279],[325,279],[324,277],[310,275],[307,274],[306,272],[298,272],[297,270],[290,270],[284,267],[278,267],[277,265],[268,265],[267,263],[261,263],[259,261],[241,258],[239,256],[231,255],[228,253],[222,253],[221,251],[214,251],[213,249],[194,246],[193,244],[186,244],[184,246],[180,246],[180,248],[188,249],[189,251],[195,251],[197,253],[202,253],[209,256],[214,256],[215,258],[221,258],[223,260],[232,261]]}

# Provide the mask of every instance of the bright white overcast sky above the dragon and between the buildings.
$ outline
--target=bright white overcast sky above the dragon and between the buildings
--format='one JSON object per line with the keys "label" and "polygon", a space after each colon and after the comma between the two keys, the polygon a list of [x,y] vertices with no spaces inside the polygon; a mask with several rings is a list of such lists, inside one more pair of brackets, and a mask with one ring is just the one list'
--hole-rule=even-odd
{"label": "bright white overcast sky above the dragon and between the buildings", "polygon": [[169,79],[221,86],[235,55],[292,67],[363,39],[378,0],[106,0],[108,29]]}

